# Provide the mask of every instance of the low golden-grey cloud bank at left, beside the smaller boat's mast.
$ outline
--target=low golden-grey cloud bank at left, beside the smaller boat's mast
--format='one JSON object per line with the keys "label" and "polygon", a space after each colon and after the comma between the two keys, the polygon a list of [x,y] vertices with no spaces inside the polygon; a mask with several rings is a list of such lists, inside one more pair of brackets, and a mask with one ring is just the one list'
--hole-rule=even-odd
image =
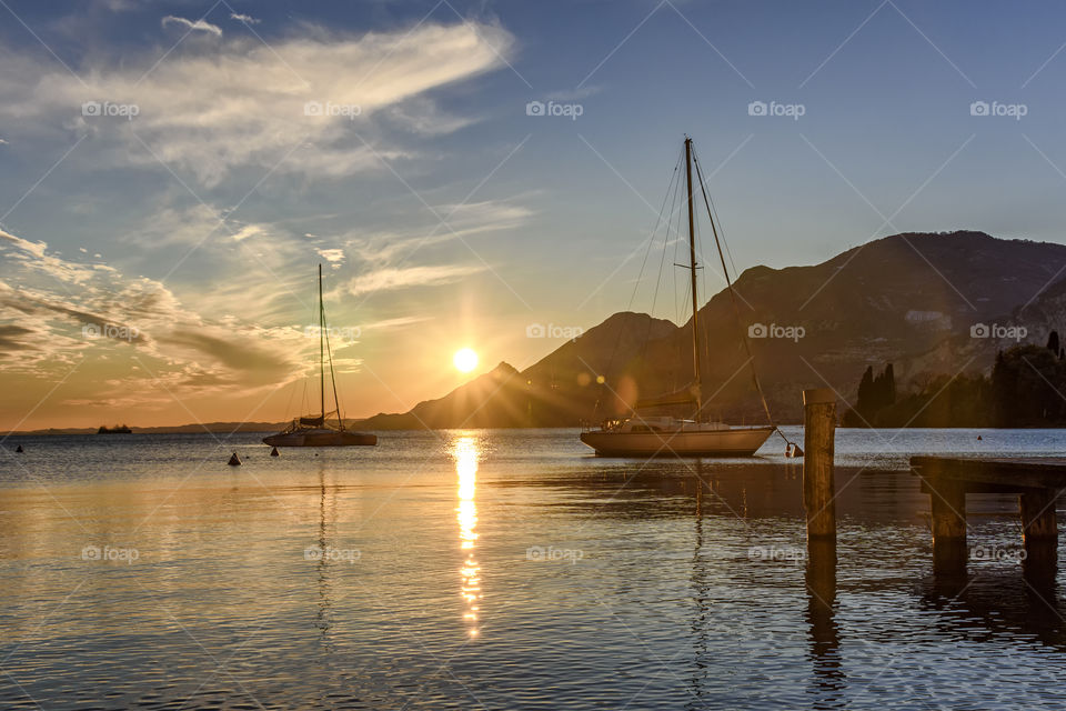
{"label": "low golden-grey cloud bank at left, beside the smaller boat's mast", "polygon": [[[305,368],[301,359],[311,347],[293,327],[262,328],[224,312],[205,318],[159,281],[128,278],[109,264],[64,260],[50,252],[46,242],[3,231],[0,238],[0,244],[6,243],[17,258],[0,263],[6,271],[17,272],[18,279],[18,286],[0,280],[4,374],[53,377],[57,365],[69,367],[79,358],[91,356],[99,363],[122,353],[144,364],[143,370],[130,372],[129,365],[115,361],[114,368],[123,368],[125,384],[151,378],[179,391],[253,390],[276,387]],[[254,319],[249,304],[261,303],[262,294],[248,281],[232,287],[243,296],[243,310],[238,313]],[[212,313],[219,313],[214,306]],[[130,348],[134,350],[114,350]],[[9,358],[14,352],[18,358]],[[104,384],[82,380],[81,387]]]}

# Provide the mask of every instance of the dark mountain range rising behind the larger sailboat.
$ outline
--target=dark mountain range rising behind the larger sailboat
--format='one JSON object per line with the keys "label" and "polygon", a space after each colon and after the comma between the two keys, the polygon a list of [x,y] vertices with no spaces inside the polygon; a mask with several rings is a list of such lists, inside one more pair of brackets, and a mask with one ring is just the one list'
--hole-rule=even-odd
{"label": "dark mountain range rising behind the larger sailboat", "polygon": [[[1066,331],[1064,272],[1066,246],[974,231],[895,234],[819,264],[754,267],[734,284],[737,311],[727,290],[700,309],[707,412],[765,421],[742,339],[750,330],[778,422],[800,420],[805,388],[854,399],[871,364],[894,363],[901,389],[936,373],[986,371],[1016,342],[1007,329],[1024,327],[1024,340],[1042,344],[1050,329]],[[676,327],[616,313],[522,372],[501,364],[445,398],[361,425],[575,425],[685,387],[692,358],[691,320]]]}

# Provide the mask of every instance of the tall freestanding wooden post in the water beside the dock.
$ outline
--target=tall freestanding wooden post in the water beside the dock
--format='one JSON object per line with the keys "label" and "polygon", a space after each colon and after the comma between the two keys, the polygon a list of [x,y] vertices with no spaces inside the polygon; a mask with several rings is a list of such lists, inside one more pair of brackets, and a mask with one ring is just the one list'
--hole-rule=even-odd
{"label": "tall freestanding wooden post in the water beside the dock", "polygon": [[833,480],[836,393],[828,388],[803,391],[803,508],[807,538],[836,537]]}

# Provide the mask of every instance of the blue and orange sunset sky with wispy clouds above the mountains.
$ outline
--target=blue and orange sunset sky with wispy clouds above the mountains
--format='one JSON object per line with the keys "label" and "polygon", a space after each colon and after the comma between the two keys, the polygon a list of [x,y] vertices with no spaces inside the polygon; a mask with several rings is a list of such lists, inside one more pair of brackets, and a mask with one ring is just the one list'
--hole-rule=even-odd
{"label": "blue and orange sunset sky with wispy clouds above the mountains", "polygon": [[630,306],[686,133],[742,271],[906,231],[1064,241],[1060,3],[0,18],[0,431],[316,410],[319,263],[348,417],[527,367]]}

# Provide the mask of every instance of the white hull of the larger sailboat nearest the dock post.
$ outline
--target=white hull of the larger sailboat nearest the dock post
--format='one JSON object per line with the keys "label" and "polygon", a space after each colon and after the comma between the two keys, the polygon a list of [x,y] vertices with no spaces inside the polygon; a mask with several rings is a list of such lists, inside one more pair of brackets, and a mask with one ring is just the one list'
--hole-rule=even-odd
{"label": "white hull of the larger sailboat nearest the dock post", "polygon": [[581,441],[600,457],[751,457],[773,432],[772,427],[695,432],[593,430],[582,432]]}

